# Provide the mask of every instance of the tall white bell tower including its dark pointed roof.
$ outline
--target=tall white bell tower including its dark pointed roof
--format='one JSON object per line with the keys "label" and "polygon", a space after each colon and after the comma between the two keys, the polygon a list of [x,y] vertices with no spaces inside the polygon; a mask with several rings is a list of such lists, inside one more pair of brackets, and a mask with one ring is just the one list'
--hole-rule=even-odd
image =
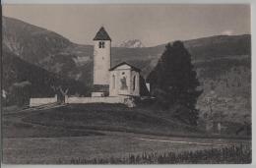
{"label": "tall white bell tower including its dark pointed roof", "polygon": [[96,32],[94,43],[94,84],[109,85],[111,38],[103,27]]}

